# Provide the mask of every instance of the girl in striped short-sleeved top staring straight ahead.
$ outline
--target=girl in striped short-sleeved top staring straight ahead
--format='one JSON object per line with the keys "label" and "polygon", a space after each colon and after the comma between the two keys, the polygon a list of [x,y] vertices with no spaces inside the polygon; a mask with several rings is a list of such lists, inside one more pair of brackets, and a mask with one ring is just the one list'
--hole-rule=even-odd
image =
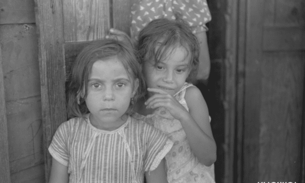
{"label": "girl in striped short-sleeved top staring straight ahead", "polygon": [[125,44],[85,47],[72,68],[68,113],[49,147],[50,183],[165,183],[162,161],[172,142],[129,116],[144,87],[139,63]]}

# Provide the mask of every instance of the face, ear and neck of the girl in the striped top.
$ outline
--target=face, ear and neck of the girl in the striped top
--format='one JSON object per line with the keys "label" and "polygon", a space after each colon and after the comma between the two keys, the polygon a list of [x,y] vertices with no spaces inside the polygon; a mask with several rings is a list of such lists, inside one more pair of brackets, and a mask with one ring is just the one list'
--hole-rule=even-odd
{"label": "face, ear and neck of the girl in the striped top", "polygon": [[121,117],[138,88],[138,80],[133,83],[130,79],[117,57],[94,62],[85,99],[92,125],[115,128],[125,123]]}

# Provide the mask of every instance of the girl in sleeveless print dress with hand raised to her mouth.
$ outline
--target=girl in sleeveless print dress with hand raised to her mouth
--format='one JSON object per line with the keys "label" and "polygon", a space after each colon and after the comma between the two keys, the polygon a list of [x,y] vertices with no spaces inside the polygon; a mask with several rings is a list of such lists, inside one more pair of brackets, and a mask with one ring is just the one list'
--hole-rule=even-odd
{"label": "girl in sleeveless print dress with hand raised to her mouth", "polygon": [[147,85],[134,116],[161,129],[174,146],[165,156],[169,183],[214,183],[216,144],[206,102],[197,87],[199,45],[183,21],[151,21],[139,34]]}

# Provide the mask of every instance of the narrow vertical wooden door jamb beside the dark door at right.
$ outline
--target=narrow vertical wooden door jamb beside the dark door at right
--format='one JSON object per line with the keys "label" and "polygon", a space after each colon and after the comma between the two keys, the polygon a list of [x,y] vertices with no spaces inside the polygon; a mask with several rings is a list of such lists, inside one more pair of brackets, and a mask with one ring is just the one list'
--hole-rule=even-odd
{"label": "narrow vertical wooden door jamb beside the dark door at right", "polygon": [[225,59],[225,176],[224,183],[234,181],[235,148],[235,113],[236,113],[236,64],[237,64],[237,29],[238,0],[228,0],[226,9],[226,59]]}

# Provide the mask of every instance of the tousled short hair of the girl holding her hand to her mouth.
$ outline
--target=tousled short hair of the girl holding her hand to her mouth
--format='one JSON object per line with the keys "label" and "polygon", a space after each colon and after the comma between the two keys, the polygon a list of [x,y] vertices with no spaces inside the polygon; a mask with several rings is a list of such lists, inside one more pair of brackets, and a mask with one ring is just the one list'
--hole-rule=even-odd
{"label": "tousled short hair of the girl holding her hand to her mouth", "polygon": [[191,28],[180,18],[176,20],[159,18],[144,27],[139,33],[137,45],[139,61],[141,65],[152,59],[158,63],[164,59],[168,51],[172,52],[173,48],[178,46],[182,46],[187,54],[190,54],[191,71],[186,81],[193,82],[198,71],[200,47]]}

